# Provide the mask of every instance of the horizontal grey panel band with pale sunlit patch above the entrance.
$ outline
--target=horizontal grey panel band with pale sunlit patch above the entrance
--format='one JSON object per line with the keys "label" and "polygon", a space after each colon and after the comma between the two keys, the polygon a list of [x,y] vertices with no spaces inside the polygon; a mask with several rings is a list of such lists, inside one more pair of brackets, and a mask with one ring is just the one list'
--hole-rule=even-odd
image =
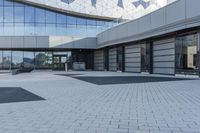
{"label": "horizontal grey panel band with pale sunlit patch above the entrance", "polygon": [[68,36],[0,36],[0,48],[69,48],[95,49],[95,37],[74,38]]}

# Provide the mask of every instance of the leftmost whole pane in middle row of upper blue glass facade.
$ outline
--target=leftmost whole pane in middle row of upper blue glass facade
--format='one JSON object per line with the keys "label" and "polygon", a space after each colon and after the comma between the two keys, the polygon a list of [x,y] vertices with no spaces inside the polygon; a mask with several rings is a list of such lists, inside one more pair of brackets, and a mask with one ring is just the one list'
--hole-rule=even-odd
{"label": "leftmost whole pane in middle row of upper blue glass facade", "polygon": [[13,22],[13,7],[4,7],[4,22]]}

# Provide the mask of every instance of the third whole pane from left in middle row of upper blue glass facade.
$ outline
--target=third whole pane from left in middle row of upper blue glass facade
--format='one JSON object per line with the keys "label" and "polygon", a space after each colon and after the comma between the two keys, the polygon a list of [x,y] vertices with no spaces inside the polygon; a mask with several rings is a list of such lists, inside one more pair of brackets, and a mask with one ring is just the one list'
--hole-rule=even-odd
{"label": "third whole pane from left in middle row of upper blue glass facade", "polygon": [[25,7],[25,22],[34,23],[35,22],[35,8],[31,6]]}

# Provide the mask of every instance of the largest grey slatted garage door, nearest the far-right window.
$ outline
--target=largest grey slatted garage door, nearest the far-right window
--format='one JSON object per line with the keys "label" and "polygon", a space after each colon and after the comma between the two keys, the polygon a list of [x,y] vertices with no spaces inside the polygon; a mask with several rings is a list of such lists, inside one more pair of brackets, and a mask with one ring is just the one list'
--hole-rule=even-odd
{"label": "largest grey slatted garage door, nearest the far-right window", "polygon": [[174,39],[153,43],[153,73],[175,73],[175,42]]}

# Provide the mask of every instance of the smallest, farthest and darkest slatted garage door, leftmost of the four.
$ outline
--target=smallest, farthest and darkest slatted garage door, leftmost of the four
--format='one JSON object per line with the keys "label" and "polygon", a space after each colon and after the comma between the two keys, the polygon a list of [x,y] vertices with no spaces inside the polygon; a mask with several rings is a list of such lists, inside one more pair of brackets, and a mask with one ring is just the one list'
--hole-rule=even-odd
{"label": "smallest, farthest and darkest slatted garage door, leftmost of the four", "polygon": [[94,70],[102,71],[104,70],[104,54],[103,50],[94,52]]}

